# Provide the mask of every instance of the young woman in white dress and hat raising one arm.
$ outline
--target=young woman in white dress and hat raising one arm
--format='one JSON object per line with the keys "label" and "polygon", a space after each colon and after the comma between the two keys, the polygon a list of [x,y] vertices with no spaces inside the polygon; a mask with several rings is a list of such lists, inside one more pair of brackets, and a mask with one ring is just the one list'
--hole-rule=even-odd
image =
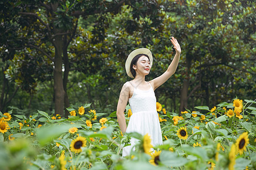
{"label": "young woman in white dress and hat raising one arm", "polygon": [[[180,59],[180,45],[174,37],[171,37],[176,54],[170,66],[162,75],[149,82],[145,76],[150,73],[153,58],[150,50],[146,48],[136,49],[126,59],[125,69],[128,76],[134,78],[123,84],[117,104],[117,120],[122,133],[138,132],[142,135],[150,135],[152,146],[162,145],[162,132],[160,128],[158,112],[156,111],[155,90],[175,73]],[[125,115],[127,101],[133,113],[126,128]],[[122,156],[130,154],[137,140],[131,138],[130,146],[123,148]]]}

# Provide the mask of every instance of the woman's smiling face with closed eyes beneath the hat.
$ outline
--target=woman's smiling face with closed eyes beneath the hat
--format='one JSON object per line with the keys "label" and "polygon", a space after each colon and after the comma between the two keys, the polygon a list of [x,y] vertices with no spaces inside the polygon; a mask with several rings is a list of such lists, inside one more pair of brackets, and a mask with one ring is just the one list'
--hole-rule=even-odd
{"label": "woman's smiling face with closed eyes beneath the hat", "polygon": [[151,69],[150,60],[146,56],[139,57],[136,65],[133,65],[133,69],[136,71],[136,75],[148,75]]}

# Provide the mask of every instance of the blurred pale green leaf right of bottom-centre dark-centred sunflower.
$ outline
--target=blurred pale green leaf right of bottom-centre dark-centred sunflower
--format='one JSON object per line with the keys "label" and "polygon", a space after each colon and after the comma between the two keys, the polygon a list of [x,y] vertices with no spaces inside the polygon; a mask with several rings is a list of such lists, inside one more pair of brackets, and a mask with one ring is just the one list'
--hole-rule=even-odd
{"label": "blurred pale green leaf right of bottom-centre dark-centred sunflower", "polygon": [[160,162],[168,167],[180,167],[188,162],[187,159],[178,156],[175,152],[162,151]]}

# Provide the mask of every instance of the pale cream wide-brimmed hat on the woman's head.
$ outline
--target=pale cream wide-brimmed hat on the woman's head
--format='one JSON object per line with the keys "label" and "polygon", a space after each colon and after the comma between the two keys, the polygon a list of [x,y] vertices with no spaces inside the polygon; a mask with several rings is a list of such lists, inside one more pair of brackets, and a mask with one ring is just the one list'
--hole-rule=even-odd
{"label": "pale cream wide-brimmed hat on the woman's head", "polygon": [[152,53],[150,52],[149,49],[147,49],[147,48],[139,48],[139,49],[133,50],[133,52],[131,52],[129,54],[129,56],[127,57],[126,62],[125,62],[125,70],[126,70],[127,75],[130,76],[130,78],[134,78],[134,76],[133,76],[133,74],[131,74],[131,70],[130,70],[131,61],[138,54],[147,54],[147,56],[150,58],[150,65],[152,66],[153,57],[152,57]]}

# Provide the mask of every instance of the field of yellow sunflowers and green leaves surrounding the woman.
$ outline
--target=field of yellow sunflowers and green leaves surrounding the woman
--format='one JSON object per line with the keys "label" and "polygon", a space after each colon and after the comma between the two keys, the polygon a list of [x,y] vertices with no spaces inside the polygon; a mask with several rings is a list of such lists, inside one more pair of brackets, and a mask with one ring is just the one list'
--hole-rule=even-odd
{"label": "field of yellow sunflowers and green leaves surrounding the woman", "polygon": [[[147,134],[122,134],[116,112],[90,104],[67,108],[68,118],[0,112],[1,169],[255,169],[255,103],[236,98],[181,113],[156,103],[163,145],[153,152]],[[127,105],[127,123],[132,114]],[[139,142],[123,158],[131,138]]]}

